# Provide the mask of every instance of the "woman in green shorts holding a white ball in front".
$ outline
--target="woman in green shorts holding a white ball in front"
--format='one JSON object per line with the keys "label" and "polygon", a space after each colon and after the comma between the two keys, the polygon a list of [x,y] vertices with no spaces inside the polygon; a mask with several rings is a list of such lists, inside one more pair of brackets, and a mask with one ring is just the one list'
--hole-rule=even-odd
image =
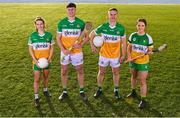
{"label": "woman in green shorts holding a white ball in front", "polygon": [[48,62],[51,62],[53,55],[53,44],[54,40],[52,34],[45,31],[45,22],[41,17],[35,19],[36,31],[33,32],[28,41],[29,53],[33,59],[33,69],[34,69],[34,96],[35,96],[35,106],[39,106],[39,82],[41,71],[44,75],[44,95],[51,96],[48,87],[48,76],[49,76],[49,66],[41,69],[38,66],[39,58],[46,58]]}

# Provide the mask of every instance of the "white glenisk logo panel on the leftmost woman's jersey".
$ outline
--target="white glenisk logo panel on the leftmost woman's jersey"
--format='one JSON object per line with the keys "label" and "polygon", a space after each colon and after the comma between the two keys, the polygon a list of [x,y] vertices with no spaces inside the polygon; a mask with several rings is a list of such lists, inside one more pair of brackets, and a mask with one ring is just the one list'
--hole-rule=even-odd
{"label": "white glenisk logo panel on the leftmost woman's jersey", "polygon": [[34,50],[44,50],[49,49],[49,43],[33,43]]}

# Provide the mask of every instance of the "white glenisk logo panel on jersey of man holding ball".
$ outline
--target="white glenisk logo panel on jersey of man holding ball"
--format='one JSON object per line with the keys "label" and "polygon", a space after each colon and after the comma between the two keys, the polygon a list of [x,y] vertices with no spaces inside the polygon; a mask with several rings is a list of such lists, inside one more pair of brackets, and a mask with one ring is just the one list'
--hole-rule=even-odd
{"label": "white glenisk logo panel on jersey of man holding ball", "polygon": [[103,34],[102,37],[104,38],[105,42],[118,42],[120,37],[115,35],[107,35]]}

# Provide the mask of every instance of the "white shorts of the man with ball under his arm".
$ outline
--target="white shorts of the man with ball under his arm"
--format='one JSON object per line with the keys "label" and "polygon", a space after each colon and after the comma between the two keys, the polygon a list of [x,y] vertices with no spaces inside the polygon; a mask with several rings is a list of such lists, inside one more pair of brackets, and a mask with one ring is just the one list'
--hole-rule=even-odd
{"label": "white shorts of the man with ball under his arm", "polygon": [[119,58],[106,58],[103,56],[99,56],[99,66],[107,67],[109,65],[113,68],[119,67],[120,66]]}

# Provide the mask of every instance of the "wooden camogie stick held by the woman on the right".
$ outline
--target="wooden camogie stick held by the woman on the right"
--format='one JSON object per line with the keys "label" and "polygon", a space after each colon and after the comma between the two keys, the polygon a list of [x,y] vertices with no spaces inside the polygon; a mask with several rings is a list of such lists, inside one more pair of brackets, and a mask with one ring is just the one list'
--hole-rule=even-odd
{"label": "wooden camogie stick held by the woman on the right", "polygon": [[[166,49],[166,48],[167,48],[167,44],[163,44],[163,45],[159,46],[157,49],[154,49],[154,50],[152,51],[152,54],[153,54],[153,53],[161,52],[161,51],[163,51],[163,50]],[[137,57],[134,57],[134,58],[132,58],[132,59],[126,60],[125,63],[128,63],[128,62],[134,61],[134,60],[136,60],[136,59],[142,58],[142,57],[145,56],[145,55],[147,55],[147,54],[141,54],[141,55],[139,55],[139,56],[137,56]]]}

